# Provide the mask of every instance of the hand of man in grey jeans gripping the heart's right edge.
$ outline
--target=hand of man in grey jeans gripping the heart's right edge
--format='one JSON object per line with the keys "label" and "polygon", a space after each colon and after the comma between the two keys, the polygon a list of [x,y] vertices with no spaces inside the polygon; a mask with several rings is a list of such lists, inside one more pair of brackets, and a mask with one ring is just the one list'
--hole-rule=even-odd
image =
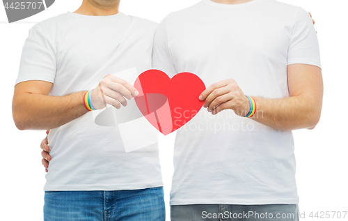
{"label": "hand of man in grey jeans gripping the heart's right edge", "polygon": [[250,111],[249,100],[234,79],[212,84],[200,94],[199,100],[205,100],[203,107],[213,115],[224,109],[232,109],[238,116],[246,116]]}

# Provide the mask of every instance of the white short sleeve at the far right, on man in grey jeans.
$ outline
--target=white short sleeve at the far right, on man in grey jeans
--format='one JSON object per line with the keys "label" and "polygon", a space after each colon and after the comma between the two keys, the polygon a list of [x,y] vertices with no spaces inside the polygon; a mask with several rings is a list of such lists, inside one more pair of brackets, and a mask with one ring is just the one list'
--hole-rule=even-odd
{"label": "white short sleeve at the far right, on man in grey jeans", "polygon": [[322,68],[320,63],[319,43],[310,15],[299,8],[290,36],[287,65],[304,63]]}

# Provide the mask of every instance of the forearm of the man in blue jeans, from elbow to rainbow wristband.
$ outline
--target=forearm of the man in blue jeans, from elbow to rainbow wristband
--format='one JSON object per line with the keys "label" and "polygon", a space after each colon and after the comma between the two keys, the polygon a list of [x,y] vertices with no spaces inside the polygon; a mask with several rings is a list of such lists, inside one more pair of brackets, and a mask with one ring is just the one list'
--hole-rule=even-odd
{"label": "forearm of the man in blue jeans, from elbow to rainbow wristband", "polygon": [[84,91],[68,96],[23,93],[13,100],[13,119],[19,130],[58,128],[86,114]]}

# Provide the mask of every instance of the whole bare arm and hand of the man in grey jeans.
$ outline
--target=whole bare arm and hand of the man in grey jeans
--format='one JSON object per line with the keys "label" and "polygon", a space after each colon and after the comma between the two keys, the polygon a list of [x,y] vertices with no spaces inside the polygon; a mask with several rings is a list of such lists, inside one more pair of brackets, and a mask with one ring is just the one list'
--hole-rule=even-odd
{"label": "whole bare arm and hand of the man in grey jeans", "polygon": [[[287,66],[289,98],[266,99],[255,97],[257,112],[251,118],[276,130],[313,129],[322,111],[322,70],[317,66],[292,64]],[[209,86],[200,96],[212,114],[232,109],[245,116],[250,105],[234,79]]]}

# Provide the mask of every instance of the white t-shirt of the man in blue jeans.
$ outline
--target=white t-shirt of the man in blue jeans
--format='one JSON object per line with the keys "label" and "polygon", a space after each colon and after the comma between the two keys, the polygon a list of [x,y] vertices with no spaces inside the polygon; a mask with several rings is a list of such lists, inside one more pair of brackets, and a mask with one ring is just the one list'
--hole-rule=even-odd
{"label": "white t-shirt of the man in blue jeans", "polygon": [[[107,74],[134,67],[140,74],[151,68],[156,28],[154,22],[122,13],[52,17],[29,31],[16,83],[52,82],[50,95],[64,96],[90,89]],[[51,130],[49,148],[45,190],[163,185],[157,143],[126,153],[118,127],[96,125],[92,112]]]}

